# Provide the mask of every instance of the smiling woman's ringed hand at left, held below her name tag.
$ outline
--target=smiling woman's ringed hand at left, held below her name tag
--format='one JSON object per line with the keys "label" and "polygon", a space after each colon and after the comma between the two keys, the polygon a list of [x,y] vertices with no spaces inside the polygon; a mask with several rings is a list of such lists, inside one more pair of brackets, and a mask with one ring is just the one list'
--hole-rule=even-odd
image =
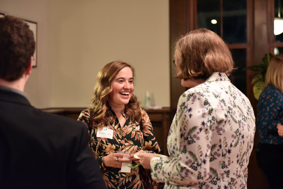
{"label": "smiling woman's ringed hand at left, held below her name tag", "polygon": [[[123,162],[129,162],[129,158],[122,158],[124,155],[128,156],[126,153],[111,153],[102,158],[102,161],[106,167],[116,167],[121,168]],[[117,161],[118,160],[118,161]]]}

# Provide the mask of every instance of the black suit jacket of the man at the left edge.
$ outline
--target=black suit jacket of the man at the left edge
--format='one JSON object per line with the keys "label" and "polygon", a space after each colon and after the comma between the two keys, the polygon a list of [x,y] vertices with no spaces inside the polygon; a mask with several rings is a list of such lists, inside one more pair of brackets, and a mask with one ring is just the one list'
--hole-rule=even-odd
{"label": "black suit jacket of the man at the left edge", "polygon": [[106,188],[84,124],[0,89],[0,188]]}

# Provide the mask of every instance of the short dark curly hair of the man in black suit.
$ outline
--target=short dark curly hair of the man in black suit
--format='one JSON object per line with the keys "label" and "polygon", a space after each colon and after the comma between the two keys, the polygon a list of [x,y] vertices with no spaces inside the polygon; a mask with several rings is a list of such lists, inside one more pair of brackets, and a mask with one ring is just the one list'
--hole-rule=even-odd
{"label": "short dark curly hair of the man in black suit", "polygon": [[29,67],[35,46],[33,32],[23,19],[0,18],[0,78],[18,80]]}

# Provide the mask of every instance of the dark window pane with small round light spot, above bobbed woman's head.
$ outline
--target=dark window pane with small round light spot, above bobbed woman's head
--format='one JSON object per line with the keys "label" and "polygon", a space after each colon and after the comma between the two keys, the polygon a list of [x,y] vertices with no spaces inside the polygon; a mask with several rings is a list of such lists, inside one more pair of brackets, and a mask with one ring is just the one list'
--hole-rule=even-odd
{"label": "dark window pane with small round light spot, above bobbed woman's head", "polygon": [[[213,24],[212,20],[217,23]],[[220,0],[198,0],[197,28],[206,28],[221,36],[220,24]]]}

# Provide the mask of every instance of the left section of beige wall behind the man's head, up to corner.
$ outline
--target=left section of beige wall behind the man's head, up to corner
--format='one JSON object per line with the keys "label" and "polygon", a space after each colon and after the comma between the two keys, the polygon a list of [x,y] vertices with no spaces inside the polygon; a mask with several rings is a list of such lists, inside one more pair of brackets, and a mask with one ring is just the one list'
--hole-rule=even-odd
{"label": "left section of beige wall behind the man's head, up to corner", "polygon": [[37,64],[25,87],[36,108],[51,106],[49,2],[47,0],[0,0],[0,12],[37,22]]}

